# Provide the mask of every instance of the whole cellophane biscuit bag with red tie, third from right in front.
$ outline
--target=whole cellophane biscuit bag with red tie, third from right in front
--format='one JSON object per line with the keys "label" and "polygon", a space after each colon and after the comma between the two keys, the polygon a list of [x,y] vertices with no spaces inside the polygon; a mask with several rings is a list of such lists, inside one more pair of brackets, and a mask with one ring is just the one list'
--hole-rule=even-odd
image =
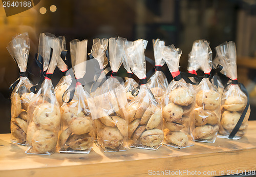
{"label": "whole cellophane biscuit bag with red tie, third from right in front", "polygon": [[[190,135],[191,111],[196,104],[194,86],[186,83],[179,71],[179,61],[182,52],[174,45],[163,49],[163,57],[174,80],[170,82],[163,107],[164,144],[176,148],[194,145]],[[191,125],[190,125],[191,124]]]}

